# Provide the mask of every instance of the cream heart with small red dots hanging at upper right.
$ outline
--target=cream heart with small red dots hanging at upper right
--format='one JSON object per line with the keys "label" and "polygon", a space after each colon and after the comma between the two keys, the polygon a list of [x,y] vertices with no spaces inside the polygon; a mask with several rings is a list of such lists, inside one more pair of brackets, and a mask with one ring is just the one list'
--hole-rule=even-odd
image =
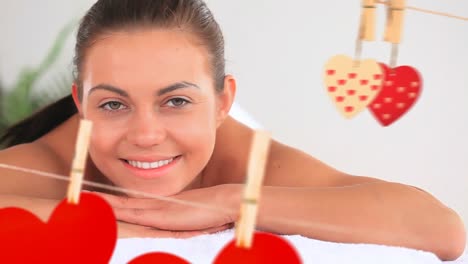
{"label": "cream heart with small red dots hanging at upper right", "polygon": [[365,110],[380,92],[384,73],[375,60],[355,63],[348,56],[338,55],[326,63],[324,81],[338,111],[352,118]]}

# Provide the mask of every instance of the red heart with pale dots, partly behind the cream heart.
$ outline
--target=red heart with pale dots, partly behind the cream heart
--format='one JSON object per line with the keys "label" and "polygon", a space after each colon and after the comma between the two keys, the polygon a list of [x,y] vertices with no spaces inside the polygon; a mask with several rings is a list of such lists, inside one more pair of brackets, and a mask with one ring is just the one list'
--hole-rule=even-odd
{"label": "red heart with pale dots, partly behind the cream heart", "polygon": [[416,69],[399,66],[390,69],[380,63],[385,82],[380,93],[367,106],[383,126],[398,120],[414,105],[421,94],[422,78]]}

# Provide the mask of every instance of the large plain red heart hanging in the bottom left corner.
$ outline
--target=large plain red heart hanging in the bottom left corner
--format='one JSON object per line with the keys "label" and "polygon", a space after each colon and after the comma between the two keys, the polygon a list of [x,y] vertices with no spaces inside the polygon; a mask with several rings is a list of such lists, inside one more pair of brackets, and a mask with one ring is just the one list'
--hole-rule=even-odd
{"label": "large plain red heart hanging in the bottom left corner", "polygon": [[47,223],[20,208],[0,209],[2,263],[109,263],[117,222],[109,204],[82,193],[78,205],[63,200]]}

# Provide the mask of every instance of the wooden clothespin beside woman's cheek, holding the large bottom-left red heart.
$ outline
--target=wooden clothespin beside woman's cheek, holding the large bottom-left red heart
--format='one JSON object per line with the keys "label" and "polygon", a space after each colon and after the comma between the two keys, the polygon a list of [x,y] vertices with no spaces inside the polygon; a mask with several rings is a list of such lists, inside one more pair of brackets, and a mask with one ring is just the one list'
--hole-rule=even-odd
{"label": "wooden clothespin beside woman's cheek, holding the large bottom-left red heart", "polygon": [[68,185],[68,203],[78,204],[80,201],[81,186],[83,184],[86,158],[91,138],[92,122],[86,119],[80,120],[78,136],[75,144],[75,156],[70,171],[70,184]]}

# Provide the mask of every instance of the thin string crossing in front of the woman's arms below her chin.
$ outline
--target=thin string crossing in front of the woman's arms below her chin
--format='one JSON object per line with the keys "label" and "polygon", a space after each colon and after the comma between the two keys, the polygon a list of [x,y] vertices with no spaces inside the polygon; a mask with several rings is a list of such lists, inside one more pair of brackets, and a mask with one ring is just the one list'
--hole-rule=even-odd
{"label": "thin string crossing in front of the woman's arms below her chin", "polygon": [[[18,167],[18,166],[4,164],[4,163],[0,163],[0,168],[25,172],[25,173],[32,174],[32,175],[52,178],[52,179],[56,179],[56,180],[66,181],[66,182],[70,181],[70,178],[68,176],[64,176],[64,175],[60,175],[60,174],[56,174],[56,173],[44,172],[44,171],[40,171],[40,170],[34,170],[34,169]],[[102,183],[97,183],[97,182],[92,182],[92,181],[87,181],[87,180],[83,180],[83,185],[96,187],[96,188],[109,190],[109,191],[114,191],[114,192],[131,194],[131,195],[135,195],[135,196],[139,196],[139,197],[157,199],[157,200],[176,203],[176,204],[181,204],[181,205],[185,205],[185,206],[191,206],[191,207],[196,207],[196,208],[207,209],[207,210],[215,211],[215,212],[230,213],[230,214],[235,212],[235,210],[226,209],[226,208],[223,208],[223,207],[212,206],[212,205],[207,205],[207,204],[204,204],[204,203],[181,200],[181,199],[171,198],[171,197],[166,197],[166,196],[159,196],[159,195],[154,195],[154,194],[145,193],[145,192],[141,192],[141,191],[115,187],[115,186],[102,184]],[[240,204],[239,204],[239,206],[240,206]],[[288,225],[308,227],[308,228],[316,228],[317,227],[316,224],[312,224],[311,222],[308,222],[308,221],[291,220],[290,218],[286,218],[286,217],[271,217],[271,218],[268,219],[268,221],[273,221],[273,222],[288,224]],[[320,227],[324,228],[324,224],[321,223]],[[337,228],[336,226],[332,226],[332,225],[327,226],[327,227],[330,230],[336,230],[336,228]]]}

